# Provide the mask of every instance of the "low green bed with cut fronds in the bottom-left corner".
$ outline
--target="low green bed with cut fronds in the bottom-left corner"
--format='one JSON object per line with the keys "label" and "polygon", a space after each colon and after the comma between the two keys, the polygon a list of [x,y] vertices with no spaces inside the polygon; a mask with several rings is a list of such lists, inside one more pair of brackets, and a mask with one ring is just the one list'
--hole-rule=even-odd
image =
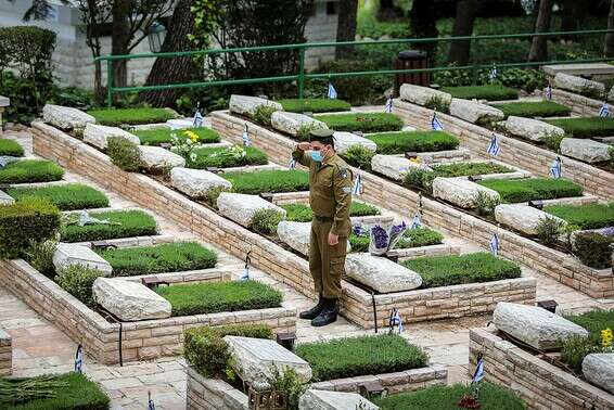
{"label": "low green bed with cut fronds in the bottom-left corner", "polygon": [[[39,387],[41,383],[55,384],[52,387]],[[24,385],[31,387],[24,387]],[[27,401],[14,402],[20,397],[17,392],[40,389],[53,393],[51,397],[40,397]],[[36,377],[0,379],[0,407],[5,410],[106,410],[110,399],[100,386],[82,373],[40,375]],[[7,398],[7,399],[4,399]]]}

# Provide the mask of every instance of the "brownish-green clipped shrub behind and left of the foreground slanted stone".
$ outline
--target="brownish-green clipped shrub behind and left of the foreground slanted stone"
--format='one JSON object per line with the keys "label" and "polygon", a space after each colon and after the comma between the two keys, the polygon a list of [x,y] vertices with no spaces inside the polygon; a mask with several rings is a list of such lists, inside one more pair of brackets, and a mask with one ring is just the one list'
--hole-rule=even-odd
{"label": "brownish-green clipped shrub behind and left of the foreground slanted stone", "polygon": [[183,356],[188,363],[205,377],[219,377],[223,376],[230,361],[223,336],[272,338],[273,332],[266,324],[231,324],[192,328],[186,330],[184,335]]}

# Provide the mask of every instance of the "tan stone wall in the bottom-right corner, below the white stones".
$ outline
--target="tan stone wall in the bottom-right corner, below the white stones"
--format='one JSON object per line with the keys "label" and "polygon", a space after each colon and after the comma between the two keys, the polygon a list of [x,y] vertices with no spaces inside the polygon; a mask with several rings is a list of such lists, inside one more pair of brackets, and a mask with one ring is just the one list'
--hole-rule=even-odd
{"label": "tan stone wall in the bottom-right corner, below the white stones", "polygon": [[614,409],[614,396],[498,336],[494,328],[469,332],[470,376],[484,355],[485,380],[516,392],[529,409]]}

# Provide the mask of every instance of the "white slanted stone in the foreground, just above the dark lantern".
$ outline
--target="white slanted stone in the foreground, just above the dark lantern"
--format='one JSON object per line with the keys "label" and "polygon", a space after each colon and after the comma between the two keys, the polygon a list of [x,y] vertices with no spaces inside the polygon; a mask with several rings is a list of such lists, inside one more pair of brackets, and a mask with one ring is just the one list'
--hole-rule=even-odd
{"label": "white slanted stone in the foreground, just above the dark lantern", "polygon": [[283,373],[293,369],[298,379],[311,380],[311,367],[304,359],[268,338],[225,336],[232,357],[232,367],[244,382],[267,383],[273,369]]}

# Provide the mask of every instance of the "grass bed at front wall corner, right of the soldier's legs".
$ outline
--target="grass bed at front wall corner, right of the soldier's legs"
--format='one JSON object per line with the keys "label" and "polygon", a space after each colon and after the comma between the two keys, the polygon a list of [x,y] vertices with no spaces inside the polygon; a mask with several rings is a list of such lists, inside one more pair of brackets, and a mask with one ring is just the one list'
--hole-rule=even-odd
{"label": "grass bed at front wall corner, right of the soldier's legs", "polygon": [[521,268],[516,264],[486,252],[469,255],[425,256],[406,260],[401,265],[420,273],[423,289],[521,277]]}

